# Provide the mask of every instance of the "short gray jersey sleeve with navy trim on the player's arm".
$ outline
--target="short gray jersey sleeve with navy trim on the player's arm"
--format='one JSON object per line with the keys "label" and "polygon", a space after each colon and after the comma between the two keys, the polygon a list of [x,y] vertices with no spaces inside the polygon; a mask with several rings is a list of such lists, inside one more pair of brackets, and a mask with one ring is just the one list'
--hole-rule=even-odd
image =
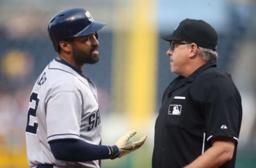
{"label": "short gray jersey sleeve with navy trim on the player's arm", "polygon": [[73,91],[59,91],[46,104],[47,140],[79,139],[82,100]]}

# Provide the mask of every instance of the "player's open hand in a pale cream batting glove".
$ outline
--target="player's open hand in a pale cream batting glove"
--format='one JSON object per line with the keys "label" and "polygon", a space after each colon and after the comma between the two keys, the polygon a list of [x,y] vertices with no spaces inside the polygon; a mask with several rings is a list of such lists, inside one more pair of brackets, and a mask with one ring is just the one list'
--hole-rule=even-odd
{"label": "player's open hand in a pale cream batting glove", "polygon": [[133,152],[134,150],[140,148],[145,140],[147,139],[147,136],[141,137],[138,141],[129,141],[131,137],[133,137],[136,134],[136,130],[132,130],[130,132],[127,132],[123,137],[119,138],[116,142],[116,146],[119,149],[119,158],[129,154],[130,152]]}

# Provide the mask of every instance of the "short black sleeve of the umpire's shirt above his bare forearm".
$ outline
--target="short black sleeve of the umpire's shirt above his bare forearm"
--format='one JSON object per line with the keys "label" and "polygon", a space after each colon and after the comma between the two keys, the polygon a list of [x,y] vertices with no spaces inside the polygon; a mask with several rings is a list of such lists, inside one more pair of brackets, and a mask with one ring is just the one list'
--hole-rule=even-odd
{"label": "short black sleeve of the umpire's shirt above his bare forearm", "polygon": [[242,106],[233,83],[226,78],[214,77],[204,81],[197,91],[201,97],[198,102],[206,125],[207,141],[218,136],[238,141]]}

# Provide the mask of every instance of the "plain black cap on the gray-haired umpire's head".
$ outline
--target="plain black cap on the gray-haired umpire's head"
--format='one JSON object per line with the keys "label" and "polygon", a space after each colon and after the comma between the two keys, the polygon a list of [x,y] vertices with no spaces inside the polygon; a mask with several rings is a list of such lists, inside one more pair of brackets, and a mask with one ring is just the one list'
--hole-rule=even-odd
{"label": "plain black cap on the gray-haired umpire's head", "polygon": [[187,41],[198,47],[216,51],[218,35],[214,28],[203,20],[185,19],[179,23],[171,35],[162,36],[166,41]]}

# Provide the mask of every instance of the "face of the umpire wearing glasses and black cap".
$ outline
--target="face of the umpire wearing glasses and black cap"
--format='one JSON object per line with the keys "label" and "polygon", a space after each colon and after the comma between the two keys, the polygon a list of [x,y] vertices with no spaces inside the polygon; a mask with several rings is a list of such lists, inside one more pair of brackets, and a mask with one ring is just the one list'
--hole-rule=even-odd
{"label": "face of the umpire wearing glasses and black cap", "polygon": [[189,61],[189,47],[187,44],[175,44],[173,48],[169,48],[166,52],[170,56],[170,66],[173,73],[183,75],[186,74],[186,67]]}

